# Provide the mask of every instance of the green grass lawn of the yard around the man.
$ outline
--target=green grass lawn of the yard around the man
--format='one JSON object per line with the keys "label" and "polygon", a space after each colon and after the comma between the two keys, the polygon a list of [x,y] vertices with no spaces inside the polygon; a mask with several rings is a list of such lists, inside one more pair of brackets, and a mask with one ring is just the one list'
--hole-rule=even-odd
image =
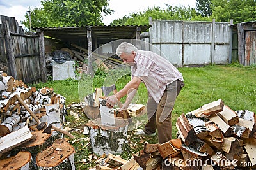
{"label": "green grass lawn of the yard around the man", "polygon": [[[239,64],[226,66],[205,66],[205,67],[180,67],[179,71],[184,76],[185,86],[177,97],[175,107],[172,111],[172,135],[175,138],[177,129],[175,123],[182,113],[196,110],[200,106],[222,99],[232,110],[250,110],[256,112],[256,67],[243,67]],[[93,79],[93,88],[101,87],[106,73],[100,71]],[[123,76],[116,81],[118,90],[124,87],[131,76]],[[35,85],[40,87],[53,87],[54,92],[61,94],[67,98],[67,105],[72,102],[79,102],[77,80],[61,80],[47,81],[47,83],[39,83]],[[80,87],[81,88],[81,87]],[[83,89],[83,88],[81,88]],[[124,99],[123,99],[124,102]],[[147,103],[147,89],[141,85],[138,90],[138,103]],[[82,129],[88,119],[86,116],[80,120],[74,120],[68,115],[67,119],[72,122],[69,126]],[[82,129],[83,130],[83,129]],[[77,138],[82,138],[83,134],[75,132]],[[129,146],[122,153],[124,159],[129,159],[132,153],[136,153],[143,148],[143,143],[157,143],[155,137],[137,137],[129,132]],[[88,155],[92,155],[92,150],[84,147],[83,141],[76,142],[73,146],[76,148],[75,161],[88,159]],[[93,167],[93,161],[90,163],[77,163],[77,169],[86,169]]]}

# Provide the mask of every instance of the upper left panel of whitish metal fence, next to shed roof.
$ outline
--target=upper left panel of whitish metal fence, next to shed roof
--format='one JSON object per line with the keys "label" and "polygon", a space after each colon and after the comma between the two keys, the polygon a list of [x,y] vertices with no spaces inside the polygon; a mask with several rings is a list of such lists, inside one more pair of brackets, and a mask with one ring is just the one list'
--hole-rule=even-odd
{"label": "upper left panel of whitish metal fence, next to shed roof", "polygon": [[182,43],[182,21],[154,20],[150,27],[151,43]]}

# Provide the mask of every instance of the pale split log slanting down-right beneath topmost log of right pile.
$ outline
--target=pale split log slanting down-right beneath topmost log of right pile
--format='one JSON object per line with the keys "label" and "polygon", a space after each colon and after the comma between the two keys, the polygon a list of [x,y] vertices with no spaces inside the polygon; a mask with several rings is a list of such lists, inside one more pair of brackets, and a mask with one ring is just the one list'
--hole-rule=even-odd
{"label": "pale split log slanting down-right beneath topmost log of right pile", "polygon": [[231,136],[233,129],[230,127],[230,125],[226,124],[224,120],[222,120],[216,113],[212,114],[211,116],[207,117],[212,122],[214,122],[220,130],[223,132],[224,136]]}

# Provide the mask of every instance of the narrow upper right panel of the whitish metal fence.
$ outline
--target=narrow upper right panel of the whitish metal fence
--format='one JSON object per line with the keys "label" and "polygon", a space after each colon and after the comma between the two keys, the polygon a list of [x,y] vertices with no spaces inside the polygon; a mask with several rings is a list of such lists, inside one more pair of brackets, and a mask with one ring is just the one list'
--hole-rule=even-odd
{"label": "narrow upper right panel of the whitish metal fence", "polygon": [[216,22],[215,43],[230,43],[230,24]]}

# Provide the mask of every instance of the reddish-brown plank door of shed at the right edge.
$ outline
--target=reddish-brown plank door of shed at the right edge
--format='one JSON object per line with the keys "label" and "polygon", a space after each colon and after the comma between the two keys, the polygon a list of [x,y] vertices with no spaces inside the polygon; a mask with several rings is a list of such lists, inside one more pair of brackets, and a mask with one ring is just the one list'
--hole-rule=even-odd
{"label": "reddish-brown plank door of shed at the right edge", "polygon": [[245,36],[245,65],[256,64],[256,31],[248,31]]}

